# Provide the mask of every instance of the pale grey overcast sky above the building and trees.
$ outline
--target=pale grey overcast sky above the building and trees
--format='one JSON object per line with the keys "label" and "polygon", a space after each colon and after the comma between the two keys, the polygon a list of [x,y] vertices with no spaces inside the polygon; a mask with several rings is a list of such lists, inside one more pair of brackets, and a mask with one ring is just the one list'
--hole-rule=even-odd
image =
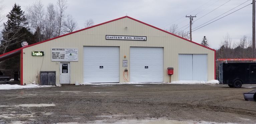
{"label": "pale grey overcast sky above the building and trees", "polygon": [[[25,8],[35,1],[4,0],[4,13],[8,13],[14,3],[19,4],[25,11]],[[56,0],[41,0],[41,2],[45,7],[49,3],[56,4]],[[168,29],[172,24],[178,24],[181,28],[189,24],[189,18],[186,18],[186,15],[197,14],[194,18],[196,21],[192,26],[193,29],[246,2],[220,17],[240,9],[250,4],[252,0],[67,0],[67,2],[68,8],[65,13],[71,14],[80,28],[90,18],[96,25],[126,14],[161,29]],[[221,6],[222,4],[224,5]],[[181,30],[185,28],[187,26]],[[189,28],[184,31],[189,31]],[[231,36],[233,43],[238,42],[244,35],[252,37],[252,5],[192,32],[192,38],[194,42],[200,43],[206,36],[210,47],[218,49],[227,33]]]}

